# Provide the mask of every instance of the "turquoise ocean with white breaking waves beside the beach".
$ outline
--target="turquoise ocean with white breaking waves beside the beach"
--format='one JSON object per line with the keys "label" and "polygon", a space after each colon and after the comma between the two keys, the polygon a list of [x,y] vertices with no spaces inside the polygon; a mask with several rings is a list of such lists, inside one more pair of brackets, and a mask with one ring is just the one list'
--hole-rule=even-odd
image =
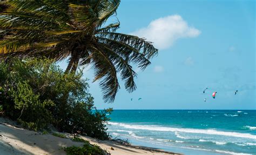
{"label": "turquoise ocean with white breaking waves beside the beach", "polygon": [[183,154],[256,154],[256,110],[114,110],[113,138]]}

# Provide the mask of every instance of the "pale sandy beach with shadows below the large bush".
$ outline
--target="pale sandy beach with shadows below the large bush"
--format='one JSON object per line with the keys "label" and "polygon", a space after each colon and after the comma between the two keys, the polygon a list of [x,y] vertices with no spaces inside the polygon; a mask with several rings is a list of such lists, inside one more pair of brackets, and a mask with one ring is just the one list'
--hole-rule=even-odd
{"label": "pale sandy beach with shadows below the large bush", "polygon": [[[83,143],[72,141],[70,138],[59,138],[52,134],[42,134],[40,132],[29,131],[17,126],[8,119],[0,119],[0,152],[7,154],[66,154],[62,147],[82,146]],[[65,133],[67,137],[70,134]],[[111,140],[97,140],[90,137],[81,136],[89,140],[91,144],[96,144],[113,155],[120,154],[177,154],[154,150],[143,146],[126,146]],[[111,150],[111,147],[113,150]]]}

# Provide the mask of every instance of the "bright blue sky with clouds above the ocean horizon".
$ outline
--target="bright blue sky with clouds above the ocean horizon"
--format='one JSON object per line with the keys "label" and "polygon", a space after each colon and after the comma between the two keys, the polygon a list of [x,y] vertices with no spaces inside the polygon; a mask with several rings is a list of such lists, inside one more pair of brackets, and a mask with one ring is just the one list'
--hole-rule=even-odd
{"label": "bright blue sky with clouds above the ocean horizon", "polygon": [[123,0],[117,17],[118,32],[146,37],[159,55],[112,104],[85,69],[98,109],[256,109],[255,1]]}

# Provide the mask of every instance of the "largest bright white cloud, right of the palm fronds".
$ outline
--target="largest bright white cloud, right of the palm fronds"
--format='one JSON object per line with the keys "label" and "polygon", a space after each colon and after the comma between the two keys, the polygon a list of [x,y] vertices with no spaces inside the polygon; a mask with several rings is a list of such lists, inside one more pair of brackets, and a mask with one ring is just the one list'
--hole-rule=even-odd
{"label": "largest bright white cloud, right of the palm fronds", "polygon": [[179,38],[197,37],[200,33],[198,29],[188,26],[181,16],[172,15],[155,19],[147,27],[131,34],[146,38],[158,49],[167,49]]}

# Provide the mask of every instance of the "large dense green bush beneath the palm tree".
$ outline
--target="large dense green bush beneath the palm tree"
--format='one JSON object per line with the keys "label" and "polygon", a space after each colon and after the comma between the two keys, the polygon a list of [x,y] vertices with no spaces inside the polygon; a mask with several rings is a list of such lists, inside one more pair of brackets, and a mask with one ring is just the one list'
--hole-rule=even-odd
{"label": "large dense green bush beneath the palm tree", "polygon": [[53,60],[10,59],[0,63],[2,114],[30,130],[49,125],[58,131],[109,139],[106,117],[98,111],[82,71],[65,74]]}

